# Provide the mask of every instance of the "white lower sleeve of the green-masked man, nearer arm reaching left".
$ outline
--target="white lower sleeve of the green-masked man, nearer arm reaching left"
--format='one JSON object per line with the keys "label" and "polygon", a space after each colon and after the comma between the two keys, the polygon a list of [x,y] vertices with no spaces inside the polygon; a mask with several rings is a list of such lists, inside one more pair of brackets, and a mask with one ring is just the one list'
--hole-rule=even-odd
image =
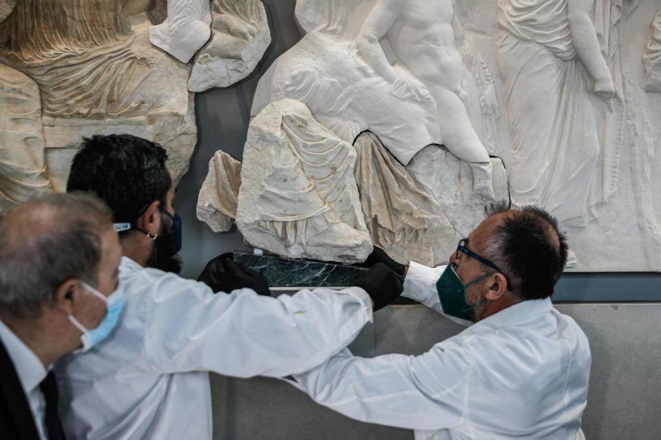
{"label": "white lower sleeve of the green-masked man, nearer arm reaching left", "polygon": [[461,350],[434,347],[415,357],[362,358],[345,349],[290,383],[352,419],[439,430],[461,423],[471,372],[472,362]]}

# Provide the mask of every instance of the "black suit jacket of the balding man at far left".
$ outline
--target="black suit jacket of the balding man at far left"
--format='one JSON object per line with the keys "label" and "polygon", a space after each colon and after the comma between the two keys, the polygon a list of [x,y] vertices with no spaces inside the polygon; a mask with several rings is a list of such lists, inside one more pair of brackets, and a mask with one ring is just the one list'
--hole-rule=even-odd
{"label": "black suit jacket of the balding man at far left", "polygon": [[[59,420],[51,440],[64,439]],[[0,439],[39,440],[28,398],[9,353],[0,339]]]}

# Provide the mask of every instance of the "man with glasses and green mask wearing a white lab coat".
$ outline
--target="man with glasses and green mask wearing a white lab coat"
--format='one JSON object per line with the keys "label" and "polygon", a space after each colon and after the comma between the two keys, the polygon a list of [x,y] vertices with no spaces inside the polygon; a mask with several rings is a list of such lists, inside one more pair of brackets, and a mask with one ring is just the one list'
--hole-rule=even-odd
{"label": "man with glasses and green mask wearing a white lab coat", "polygon": [[465,331],[419,356],[353,357],[348,350],[295,386],[337,412],[415,430],[422,439],[584,439],[591,356],[587,337],[550,297],[567,260],[552,216],[505,203],[459,242],[450,264],[403,266],[403,295]]}

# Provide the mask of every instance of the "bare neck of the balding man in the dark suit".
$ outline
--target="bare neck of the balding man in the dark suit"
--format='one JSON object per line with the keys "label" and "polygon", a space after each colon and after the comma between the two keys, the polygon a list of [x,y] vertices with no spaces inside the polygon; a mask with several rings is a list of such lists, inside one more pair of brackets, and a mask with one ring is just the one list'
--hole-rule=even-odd
{"label": "bare neck of the balding man in the dark suit", "polygon": [[19,319],[1,314],[0,319],[39,358],[44,368],[74,349],[63,346],[66,341],[59,338],[59,332],[45,322],[43,315]]}

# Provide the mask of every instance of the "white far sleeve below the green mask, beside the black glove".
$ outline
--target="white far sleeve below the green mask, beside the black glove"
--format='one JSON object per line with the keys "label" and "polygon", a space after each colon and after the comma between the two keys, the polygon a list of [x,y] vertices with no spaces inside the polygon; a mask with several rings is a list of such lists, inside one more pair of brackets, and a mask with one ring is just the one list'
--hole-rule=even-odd
{"label": "white far sleeve below the green mask, beside the black glove", "polygon": [[436,282],[446,267],[447,265],[429,267],[415,261],[410,262],[406,277],[404,278],[404,291],[401,295],[416,300],[432,310],[441,313],[441,315],[447,317],[452,322],[456,322],[462,326],[470,326],[472,324],[470,321],[443,313],[443,306],[441,306],[441,300],[439,300],[439,294],[436,290]]}

